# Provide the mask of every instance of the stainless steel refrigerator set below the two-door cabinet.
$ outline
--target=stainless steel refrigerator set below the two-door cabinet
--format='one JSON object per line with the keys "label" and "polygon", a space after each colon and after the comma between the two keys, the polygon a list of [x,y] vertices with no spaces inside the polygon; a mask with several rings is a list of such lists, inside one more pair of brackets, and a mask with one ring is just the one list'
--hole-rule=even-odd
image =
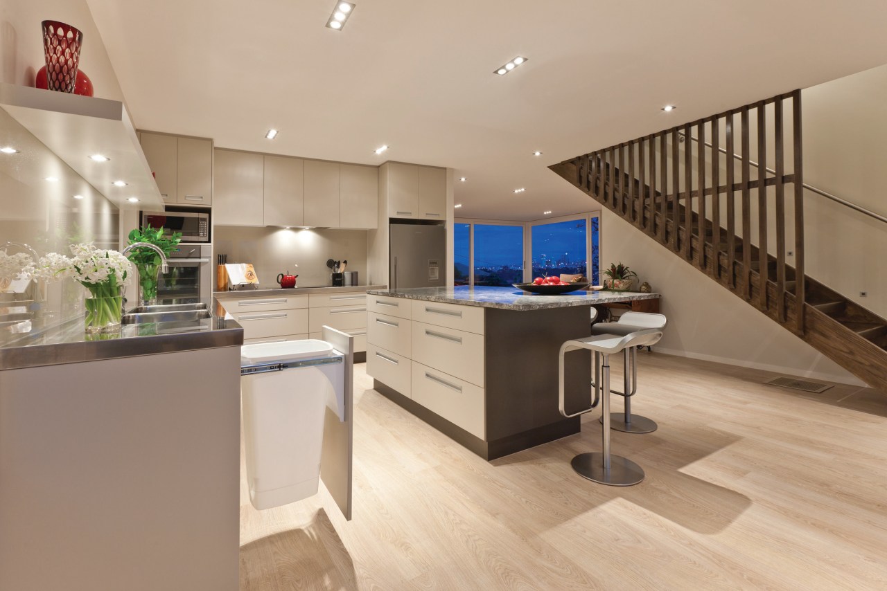
{"label": "stainless steel refrigerator set below the two-door cabinet", "polygon": [[446,229],[412,223],[392,223],[389,288],[446,285]]}

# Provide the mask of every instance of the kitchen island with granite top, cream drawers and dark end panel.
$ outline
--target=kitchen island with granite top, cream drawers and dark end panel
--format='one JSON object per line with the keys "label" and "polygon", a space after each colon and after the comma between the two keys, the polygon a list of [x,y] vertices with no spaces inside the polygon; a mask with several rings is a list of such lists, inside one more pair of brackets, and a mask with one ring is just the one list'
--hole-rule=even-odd
{"label": "kitchen island with granite top, cream drawers and dark end panel", "polygon": [[[561,344],[591,334],[592,306],[659,299],[467,286],[367,294],[374,388],[487,460],[579,432],[579,417],[558,411]],[[567,354],[565,368],[575,412],[590,400],[589,354]]]}

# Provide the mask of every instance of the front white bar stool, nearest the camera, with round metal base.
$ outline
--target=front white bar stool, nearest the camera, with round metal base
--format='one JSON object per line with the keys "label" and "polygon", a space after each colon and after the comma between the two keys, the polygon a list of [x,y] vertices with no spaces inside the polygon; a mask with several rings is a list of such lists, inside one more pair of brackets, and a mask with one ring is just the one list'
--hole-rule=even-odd
{"label": "front white bar stool, nearest the camera, with round metal base", "polygon": [[[655,343],[662,338],[662,330],[658,329],[641,329],[635,330],[624,336],[617,335],[593,335],[588,338],[578,340],[568,340],[561,345],[561,351],[558,354],[558,405],[561,415],[568,418],[573,416],[584,415],[597,405],[599,399],[602,405],[603,416],[603,451],[602,453],[586,453],[579,454],[573,458],[570,463],[573,470],[583,478],[593,480],[593,482],[610,486],[632,486],[638,484],[644,479],[644,470],[636,463],[621,455],[610,455],[610,414],[609,414],[609,356],[616,354],[635,346],[645,346],[649,343]],[[599,367],[600,360],[600,377],[594,382],[594,393],[591,408],[585,408],[572,415],[567,414],[564,408],[564,392],[563,392],[563,371],[564,371],[564,354],[575,349],[588,349],[594,352],[594,367]]]}

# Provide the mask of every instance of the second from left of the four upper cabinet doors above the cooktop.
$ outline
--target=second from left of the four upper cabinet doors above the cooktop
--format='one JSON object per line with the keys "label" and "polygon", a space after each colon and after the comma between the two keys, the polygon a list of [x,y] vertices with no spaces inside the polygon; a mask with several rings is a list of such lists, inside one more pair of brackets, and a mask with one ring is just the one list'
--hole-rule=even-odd
{"label": "second from left of the four upper cabinet doors above the cooktop", "polygon": [[264,222],[266,226],[303,226],[305,161],[265,156]]}

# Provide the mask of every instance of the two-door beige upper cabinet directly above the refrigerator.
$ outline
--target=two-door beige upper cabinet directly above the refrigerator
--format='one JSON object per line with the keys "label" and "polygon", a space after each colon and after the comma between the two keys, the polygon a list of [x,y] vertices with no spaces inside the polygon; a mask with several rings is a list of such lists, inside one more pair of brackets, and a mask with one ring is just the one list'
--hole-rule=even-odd
{"label": "two-door beige upper cabinet directly above the refrigerator", "polygon": [[380,169],[387,175],[390,218],[413,220],[446,219],[446,169],[401,162],[386,162]]}

